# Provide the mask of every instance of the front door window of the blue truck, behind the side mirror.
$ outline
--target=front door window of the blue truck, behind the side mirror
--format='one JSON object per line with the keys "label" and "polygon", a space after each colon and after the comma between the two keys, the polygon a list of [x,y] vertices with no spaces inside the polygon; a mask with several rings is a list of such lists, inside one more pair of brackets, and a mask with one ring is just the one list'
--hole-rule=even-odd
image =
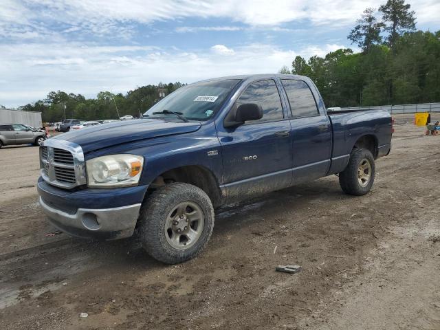
{"label": "front door window of the blue truck, behind the side mirror", "polygon": [[280,94],[275,81],[261,80],[249,85],[236,101],[236,106],[244,103],[260,104],[263,108],[263,118],[246,123],[270,122],[283,119],[283,107],[281,107]]}

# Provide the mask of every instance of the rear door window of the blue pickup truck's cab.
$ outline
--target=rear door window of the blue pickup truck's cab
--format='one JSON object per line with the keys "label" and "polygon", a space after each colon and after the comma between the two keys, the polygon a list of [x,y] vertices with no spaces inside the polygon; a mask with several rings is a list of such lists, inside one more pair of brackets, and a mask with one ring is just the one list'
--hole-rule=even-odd
{"label": "rear door window of the blue pickup truck's cab", "polygon": [[283,79],[281,82],[287,98],[289,98],[290,109],[294,118],[319,115],[314,95],[311,94],[309,86],[303,80]]}

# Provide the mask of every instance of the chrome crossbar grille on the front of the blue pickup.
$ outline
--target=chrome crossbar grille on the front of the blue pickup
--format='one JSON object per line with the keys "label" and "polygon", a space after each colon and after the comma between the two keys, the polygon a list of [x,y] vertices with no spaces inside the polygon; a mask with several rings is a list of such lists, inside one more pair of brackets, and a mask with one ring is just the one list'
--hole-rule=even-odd
{"label": "chrome crossbar grille on the front of the blue pickup", "polygon": [[72,142],[45,140],[40,147],[41,176],[61,188],[86,184],[83,149]]}

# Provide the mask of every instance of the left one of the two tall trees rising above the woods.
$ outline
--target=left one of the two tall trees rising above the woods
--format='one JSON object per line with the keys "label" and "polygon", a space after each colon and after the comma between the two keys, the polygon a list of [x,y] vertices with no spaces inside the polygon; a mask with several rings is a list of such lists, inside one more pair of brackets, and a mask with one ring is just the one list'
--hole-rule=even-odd
{"label": "left one of the two tall trees rising above the woods", "polygon": [[369,52],[373,45],[382,43],[380,36],[384,23],[378,22],[374,16],[374,8],[366,8],[362,14],[362,18],[358,19],[358,25],[351,30],[347,39],[351,43],[356,43],[364,52]]}

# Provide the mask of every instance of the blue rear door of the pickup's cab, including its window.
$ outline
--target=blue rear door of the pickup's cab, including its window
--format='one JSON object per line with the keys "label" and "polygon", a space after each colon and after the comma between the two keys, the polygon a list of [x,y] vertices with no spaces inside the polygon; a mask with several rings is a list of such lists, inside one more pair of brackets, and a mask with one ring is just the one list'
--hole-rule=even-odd
{"label": "blue rear door of the pickup's cab, including its window", "polygon": [[323,177],[331,158],[331,124],[303,80],[282,79],[292,111],[293,184]]}

